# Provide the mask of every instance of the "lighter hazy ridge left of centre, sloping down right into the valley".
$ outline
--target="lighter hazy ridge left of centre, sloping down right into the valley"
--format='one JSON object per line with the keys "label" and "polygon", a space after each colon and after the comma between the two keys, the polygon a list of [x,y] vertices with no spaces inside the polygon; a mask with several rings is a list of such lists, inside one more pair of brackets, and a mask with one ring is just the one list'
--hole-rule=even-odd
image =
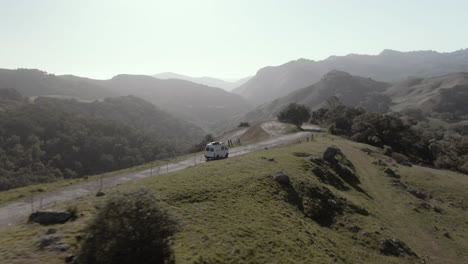
{"label": "lighter hazy ridge left of centre, sloping down right into the valley", "polygon": [[122,74],[104,82],[118,94],[142,97],[205,129],[233,113],[250,109],[247,101],[239,95],[190,81]]}

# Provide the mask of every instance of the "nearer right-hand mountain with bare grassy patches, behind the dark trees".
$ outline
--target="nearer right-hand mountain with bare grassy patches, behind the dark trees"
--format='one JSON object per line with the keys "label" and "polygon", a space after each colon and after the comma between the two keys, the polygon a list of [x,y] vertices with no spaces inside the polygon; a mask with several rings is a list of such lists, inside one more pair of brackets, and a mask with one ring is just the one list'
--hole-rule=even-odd
{"label": "nearer right-hand mountain with bare grassy patches, behind the dark trees", "polygon": [[449,114],[464,118],[468,116],[468,73],[386,83],[334,70],[317,83],[263,104],[238,117],[235,122],[256,123],[274,119],[283,107],[293,102],[317,110],[327,107],[331,97],[336,97],[346,106],[362,107],[373,112],[418,110],[426,116]]}

